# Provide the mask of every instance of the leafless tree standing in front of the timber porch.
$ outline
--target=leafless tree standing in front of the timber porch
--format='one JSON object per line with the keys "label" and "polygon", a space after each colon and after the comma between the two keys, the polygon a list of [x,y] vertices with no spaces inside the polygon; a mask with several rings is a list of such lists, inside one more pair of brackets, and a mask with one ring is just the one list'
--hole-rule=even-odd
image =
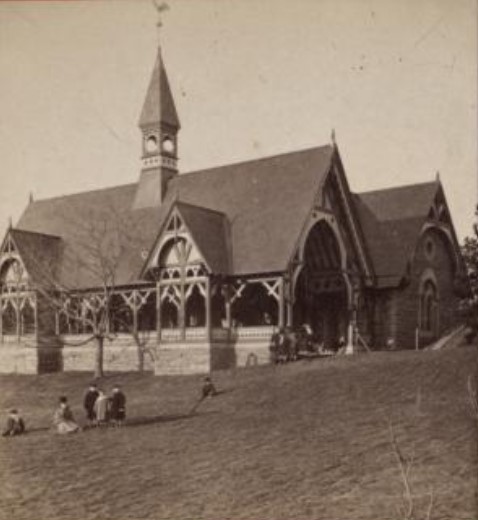
{"label": "leafless tree standing in front of the timber porch", "polygon": [[[69,216],[62,218],[68,220]],[[138,368],[143,370],[144,356],[152,352],[144,335],[138,332],[137,320],[128,319],[131,306],[128,308],[128,302],[120,296],[118,286],[125,255],[134,251],[139,256],[145,246],[141,223],[135,222],[130,212],[105,206],[95,210],[94,219],[71,222],[68,227],[74,236],[66,237],[70,240],[67,247],[59,245],[61,266],[52,261],[51,251],[44,254],[28,245],[19,251],[26,270],[33,271],[29,273],[29,284],[39,301],[40,327],[57,333],[61,317],[73,329],[86,332],[82,341],[66,344],[95,344],[95,377],[104,374],[105,342],[112,341],[118,330],[129,333],[137,347]]]}

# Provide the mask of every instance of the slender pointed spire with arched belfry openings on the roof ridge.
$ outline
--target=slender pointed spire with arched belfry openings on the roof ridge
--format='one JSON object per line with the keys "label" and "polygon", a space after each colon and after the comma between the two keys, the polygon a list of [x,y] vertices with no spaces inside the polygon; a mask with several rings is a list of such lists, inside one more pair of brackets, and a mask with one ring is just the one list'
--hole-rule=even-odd
{"label": "slender pointed spire with arched belfry openings on the roof ridge", "polygon": [[133,209],[160,206],[168,181],[178,173],[177,138],[180,123],[161,47],[158,47],[139,128],[142,138],[141,175]]}

